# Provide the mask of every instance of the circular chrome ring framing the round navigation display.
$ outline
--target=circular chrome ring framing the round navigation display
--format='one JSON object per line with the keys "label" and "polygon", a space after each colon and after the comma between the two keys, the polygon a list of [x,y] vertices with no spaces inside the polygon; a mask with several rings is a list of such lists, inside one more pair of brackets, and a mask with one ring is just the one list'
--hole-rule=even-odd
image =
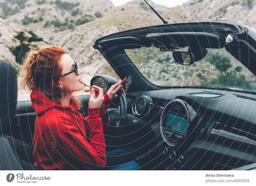
{"label": "circular chrome ring framing the round navigation display", "polygon": [[[188,115],[188,126],[189,126],[189,123],[190,123],[188,108],[187,108],[186,104],[185,104],[182,100],[180,100],[180,99],[174,99],[174,100],[169,101],[169,102],[165,105],[165,107],[164,107],[164,109],[163,109],[163,111],[162,111],[161,117],[160,117],[160,124],[159,124],[159,126],[160,126],[160,133],[161,133],[161,136],[162,136],[164,142],[167,143],[167,144],[170,145],[170,146],[175,146],[175,145],[177,145],[179,142],[177,142],[177,143],[169,143],[168,140],[165,139],[164,133],[163,133],[163,130],[162,130],[162,117],[163,117],[164,111],[165,111],[165,109],[167,108],[167,106],[170,105],[170,104],[173,103],[173,102],[179,102],[179,103],[181,103],[181,104],[184,106],[184,108],[186,109],[187,115]],[[187,136],[187,133],[188,133],[188,128],[187,128],[187,131],[186,131],[186,134],[185,134],[184,138]]]}

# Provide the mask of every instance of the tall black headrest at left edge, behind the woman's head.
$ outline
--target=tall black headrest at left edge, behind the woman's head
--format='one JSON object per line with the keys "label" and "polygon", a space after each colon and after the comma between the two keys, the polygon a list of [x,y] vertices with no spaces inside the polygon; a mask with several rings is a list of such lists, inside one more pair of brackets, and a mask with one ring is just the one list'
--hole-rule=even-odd
{"label": "tall black headrest at left edge, behind the woman's head", "polygon": [[10,63],[0,60],[0,134],[11,130],[15,117],[18,84],[17,73]]}

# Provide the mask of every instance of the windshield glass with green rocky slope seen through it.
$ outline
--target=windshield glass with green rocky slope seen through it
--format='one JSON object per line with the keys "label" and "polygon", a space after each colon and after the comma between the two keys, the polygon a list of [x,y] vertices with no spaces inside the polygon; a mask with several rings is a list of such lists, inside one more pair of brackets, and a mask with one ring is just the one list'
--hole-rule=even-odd
{"label": "windshield glass with green rocky slope seen through it", "polygon": [[[176,51],[188,51],[188,47]],[[206,56],[191,65],[180,65],[172,52],[159,48],[126,49],[141,74],[157,86],[218,87],[255,91],[255,76],[225,48],[207,48]],[[240,54],[241,55],[241,54]]]}

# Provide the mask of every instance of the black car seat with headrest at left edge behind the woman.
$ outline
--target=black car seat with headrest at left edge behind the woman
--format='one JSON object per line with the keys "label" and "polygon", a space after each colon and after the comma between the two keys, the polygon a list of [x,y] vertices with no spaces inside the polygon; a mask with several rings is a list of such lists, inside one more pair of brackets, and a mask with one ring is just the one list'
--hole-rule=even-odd
{"label": "black car seat with headrest at left edge behind the woman", "polygon": [[[33,143],[12,138],[18,84],[17,74],[10,63],[0,60],[0,170],[42,170],[33,165]],[[7,134],[6,134],[7,133]]]}

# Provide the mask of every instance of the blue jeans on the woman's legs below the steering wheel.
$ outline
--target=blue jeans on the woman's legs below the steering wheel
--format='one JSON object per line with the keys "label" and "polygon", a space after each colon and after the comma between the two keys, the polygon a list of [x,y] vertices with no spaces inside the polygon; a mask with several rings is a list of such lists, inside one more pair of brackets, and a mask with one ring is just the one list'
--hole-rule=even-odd
{"label": "blue jeans on the woman's legs below the steering wheel", "polygon": [[106,166],[99,170],[142,170],[134,161],[137,153],[132,148],[116,149],[106,153]]}

